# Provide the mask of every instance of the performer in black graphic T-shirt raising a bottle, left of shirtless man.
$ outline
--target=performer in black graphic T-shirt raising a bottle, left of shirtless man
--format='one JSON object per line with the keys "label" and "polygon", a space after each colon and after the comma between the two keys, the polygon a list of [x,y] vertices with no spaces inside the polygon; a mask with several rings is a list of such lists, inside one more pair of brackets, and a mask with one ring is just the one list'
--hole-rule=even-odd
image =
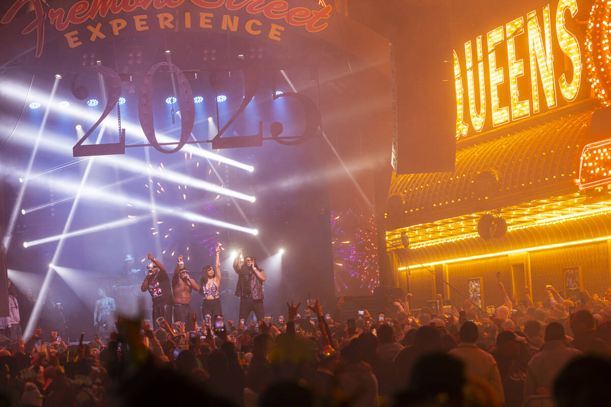
{"label": "performer in black graphic T-shirt raising a bottle, left of shirtless man", "polygon": [[148,293],[153,298],[153,328],[158,328],[157,319],[164,317],[167,323],[172,323],[172,289],[170,288],[170,278],[167,275],[166,268],[153,258],[153,255],[148,253],[147,265],[148,273],[142,281],[140,287],[142,292],[148,290]]}

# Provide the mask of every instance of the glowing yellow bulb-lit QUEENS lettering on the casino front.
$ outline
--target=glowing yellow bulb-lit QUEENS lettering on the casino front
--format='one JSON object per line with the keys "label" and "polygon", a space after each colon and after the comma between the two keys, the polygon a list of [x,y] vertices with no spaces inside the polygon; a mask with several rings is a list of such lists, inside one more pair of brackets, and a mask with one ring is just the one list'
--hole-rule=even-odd
{"label": "glowing yellow bulb-lit QUEENS lettering on the casino front", "polygon": [[555,10],[532,10],[454,51],[457,139],[577,98],[582,56],[568,27],[577,12],[577,0],[559,0]]}

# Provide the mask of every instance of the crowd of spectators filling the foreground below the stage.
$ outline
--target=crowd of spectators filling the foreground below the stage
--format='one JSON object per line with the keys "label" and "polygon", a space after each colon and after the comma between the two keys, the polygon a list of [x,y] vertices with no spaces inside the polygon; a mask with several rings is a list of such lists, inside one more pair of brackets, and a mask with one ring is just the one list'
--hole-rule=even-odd
{"label": "crowd of spectators filling the foreground below the stage", "polygon": [[[108,340],[66,344],[35,331],[0,351],[0,405],[128,406],[590,406],[611,376],[611,303],[563,298],[554,287],[533,303],[511,300],[489,314],[460,306],[359,312],[345,298],[288,304],[286,319],[246,325],[213,319],[152,327],[122,319]],[[608,296],[610,293],[607,292]],[[219,323],[219,321],[221,323]],[[193,328],[188,330],[189,325]],[[602,397],[602,398],[601,398]]]}

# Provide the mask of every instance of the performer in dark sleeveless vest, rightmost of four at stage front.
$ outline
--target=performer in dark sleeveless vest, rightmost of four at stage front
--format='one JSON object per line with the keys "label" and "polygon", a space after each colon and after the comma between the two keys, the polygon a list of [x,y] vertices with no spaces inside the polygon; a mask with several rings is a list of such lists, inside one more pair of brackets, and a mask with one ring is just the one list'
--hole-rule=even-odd
{"label": "performer in dark sleeveless vest, rightmost of four at stage front", "polygon": [[238,286],[235,295],[240,297],[239,319],[247,320],[251,311],[255,313],[257,321],[263,319],[263,281],[266,280],[265,271],[255,263],[254,257],[246,256],[244,264],[240,261],[242,249],[238,249],[238,256],[233,261],[233,270],[238,273]]}

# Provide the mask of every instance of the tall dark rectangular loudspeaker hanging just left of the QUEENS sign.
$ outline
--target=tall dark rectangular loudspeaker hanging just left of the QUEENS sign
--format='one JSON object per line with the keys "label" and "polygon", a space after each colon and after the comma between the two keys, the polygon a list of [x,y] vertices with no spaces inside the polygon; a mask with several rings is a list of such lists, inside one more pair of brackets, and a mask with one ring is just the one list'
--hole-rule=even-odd
{"label": "tall dark rectangular loudspeaker hanging just left of the QUEENS sign", "polygon": [[394,0],[392,166],[397,174],[453,171],[456,91],[450,0]]}

